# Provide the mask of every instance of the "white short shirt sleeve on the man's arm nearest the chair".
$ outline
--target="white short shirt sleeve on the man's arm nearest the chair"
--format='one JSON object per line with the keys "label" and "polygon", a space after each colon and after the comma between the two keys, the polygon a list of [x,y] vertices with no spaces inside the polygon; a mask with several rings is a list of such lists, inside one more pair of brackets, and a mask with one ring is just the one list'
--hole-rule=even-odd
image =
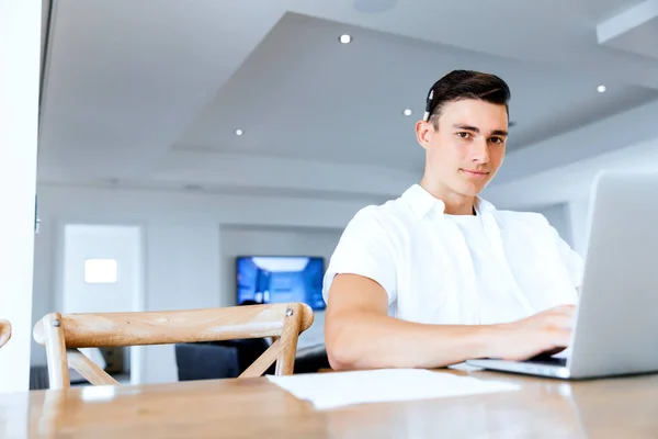
{"label": "white short shirt sleeve on the man's arm nearest the chair", "polygon": [[329,303],[329,288],[337,274],[372,279],[386,291],[388,304],[396,300],[395,252],[389,233],[378,217],[377,206],[365,207],[350,221],[325,273],[322,297]]}

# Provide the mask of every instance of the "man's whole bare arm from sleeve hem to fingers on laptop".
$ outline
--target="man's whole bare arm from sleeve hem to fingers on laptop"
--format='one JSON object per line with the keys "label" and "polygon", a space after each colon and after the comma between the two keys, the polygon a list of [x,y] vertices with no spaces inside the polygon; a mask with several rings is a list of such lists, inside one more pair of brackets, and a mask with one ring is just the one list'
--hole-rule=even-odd
{"label": "man's whole bare arm from sleeve hem to fingers on laptop", "polygon": [[389,317],[385,290],[338,274],[329,291],[325,340],[333,369],[442,368],[474,358],[526,359],[568,346],[572,306],[506,325],[427,325]]}

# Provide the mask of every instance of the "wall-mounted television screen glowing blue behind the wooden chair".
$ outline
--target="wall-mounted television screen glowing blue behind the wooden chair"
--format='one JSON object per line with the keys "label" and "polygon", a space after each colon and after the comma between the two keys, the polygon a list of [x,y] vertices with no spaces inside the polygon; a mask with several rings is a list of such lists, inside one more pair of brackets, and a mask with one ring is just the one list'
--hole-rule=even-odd
{"label": "wall-mounted television screen glowing blue behind the wooden chair", "polygon": [[237,258],[238,305],[302,302],[314,311],[325,309],[320,257],[241,256]]}

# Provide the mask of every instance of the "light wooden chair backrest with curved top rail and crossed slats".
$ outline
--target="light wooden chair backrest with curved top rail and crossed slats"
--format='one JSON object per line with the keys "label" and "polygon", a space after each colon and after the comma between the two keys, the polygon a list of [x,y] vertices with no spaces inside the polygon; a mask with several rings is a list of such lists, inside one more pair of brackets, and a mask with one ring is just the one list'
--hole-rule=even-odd
{"label": "light wooden chair backrest with curved top rail and crossed slats", "polygon": [[91,384],[118,382],[79,348],[110,348],[272,337],[274,342],[240,378],[260,376],[276,361],[275,374],[293,373],[299,334],[313,324],[302,303],[143,313],[46,314],[34,327],[45,346],[50,389],[70,386],[68,367]]}

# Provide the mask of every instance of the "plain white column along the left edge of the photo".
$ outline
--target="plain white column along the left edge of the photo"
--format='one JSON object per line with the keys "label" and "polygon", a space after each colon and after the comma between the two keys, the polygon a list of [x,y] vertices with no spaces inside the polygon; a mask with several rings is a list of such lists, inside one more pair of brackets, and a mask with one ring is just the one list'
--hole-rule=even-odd
{"label": "plain white column along the left edge of the photo", "polygon": [[41,20],[42,0],[0,0],[0,392],[30,382]]}

